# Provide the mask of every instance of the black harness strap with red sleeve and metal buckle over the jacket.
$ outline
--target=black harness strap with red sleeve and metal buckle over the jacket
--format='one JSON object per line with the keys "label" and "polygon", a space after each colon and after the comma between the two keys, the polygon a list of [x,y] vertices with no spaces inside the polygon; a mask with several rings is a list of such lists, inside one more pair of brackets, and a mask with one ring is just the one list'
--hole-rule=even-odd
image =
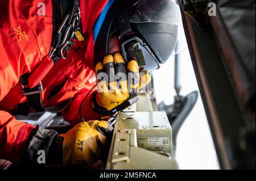
{"label": "black harness strap with red sleeve and metal buckle over the jacket", "polygon": [[[75,14],[77,17],[80,15],[80,11],[76,12],[76,10],[79,9],[79,1],[74,0],[73,1],[74,3],[72,5],[71,5],[72,1],[67,1],[67,0],[53,0],[52,2],[53,2],[52,37],[54,37],[53,39],[56,39],[56,36],[57,36],[56,28],[59,27],[58,29],[59,32],[57,32],[57,34],[59,35],[59,39],[61,40],[61,38],[63,38],[65,28],[67,28],[67,26],[70,26],[72,19],[73,19],[74,28],[77,26],[77,24],[80,23],[80,19],[75,17]],[[71,9],[71,7],[73,7],[73,9]],[[58,9],[60,11],[58,11]],[[70,14],[68,19],[69,21],[66,20],[62,24],[60,24],[61,19],[63,20],[64,18],[64,14],[68,14],[68,13]],[[78,33],[78,30],[76,31]],[[80,40],[82,40],[81,36],[82,35],[79,34]],[[73,45],[73,43],[71,42],[72,41],[71,39],[73,38],[73,34],[71,34],[69,38],[70,38],[70,40],[68,41],[69,44],[65,48],[66,51],[71,49]],[[51,47],[53,47],[54,42],[56,42],[56,40],[53,40],[53,39],[52,39]],[[59,47],[56,46],[55,48],[57,50]],[[51,53],[51,56],[47,55],[46,57],[44,57],[43,60],[40,62],[40,64],[36,67],[36,69],[32,71],[32,73],[26,73],[20,77],[21,79],[20,88],[22,90],[23,95],[27,97],[27,104],[30,108],[34,109],[36,112],[44,112],[46,110],[46,108],[43,106],[42,99],[41,99],[41,92],[43,91],[43,86],[41,81],[49,72],[49,70],[52,69],[53,65],[56,64],[56,62],[60,58],[58,51],[56,50],[55,52]],[[20,110],[20,107],[18,106],[17,109]],[[25,108],[25,109],[29,110],[29,108]]]}

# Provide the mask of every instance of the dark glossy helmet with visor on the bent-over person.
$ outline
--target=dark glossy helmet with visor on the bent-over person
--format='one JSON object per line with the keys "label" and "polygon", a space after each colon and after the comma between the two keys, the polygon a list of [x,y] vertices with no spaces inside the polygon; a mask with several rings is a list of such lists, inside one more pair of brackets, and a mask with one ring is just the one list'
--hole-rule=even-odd
{"label": "dark glossy helmet with visor on the bent-over person", "polygon": [[115,0],[95,44],[95,64],[109,54],[118,36],[126,61],[137,60],[141,70],[160,68],[175,49],[180,9],[172,0]]}

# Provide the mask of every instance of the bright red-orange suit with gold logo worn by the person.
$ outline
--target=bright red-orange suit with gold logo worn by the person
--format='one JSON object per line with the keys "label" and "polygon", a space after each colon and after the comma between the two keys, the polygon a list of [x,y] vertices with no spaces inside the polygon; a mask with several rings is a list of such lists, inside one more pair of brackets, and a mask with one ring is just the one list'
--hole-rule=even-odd
{"label": "bright red-orange suit with gold logo worn by the person", "polygon": [[[73,45],[66,60],[60,59],[43,79],[42,102],[45,107],[56,106],[72,98],[63,111],[65,120],[79,123],[79,107],[90,89],[96,85],[93,71],[93,26],[108,0],[81,0],[82,32],[85,41]],[[38,14],[44,3],[46,15]],[[20,90],[20,76],[31,73],[47,56],[53,27],[51,0],[0,0],[0,159],[19,162],[27,138],[34,129],[11,115],[26,96]],[[57,86],[59,92],[51,94]],[[94,90],[95,91],[95,90]],[[99,119],[101,115],[90,107],[88,99],[82,105],[86,120]]]}

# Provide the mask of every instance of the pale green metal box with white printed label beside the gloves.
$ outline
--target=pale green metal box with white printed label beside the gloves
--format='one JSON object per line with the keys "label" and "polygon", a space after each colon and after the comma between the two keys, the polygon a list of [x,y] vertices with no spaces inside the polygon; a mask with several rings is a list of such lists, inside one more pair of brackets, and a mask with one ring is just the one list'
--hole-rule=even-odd
{"label": "pale green metal box with white printed label beside the gloves", "polygon": [[172,128],[166,112],[120,112],[117,131],[136,129],[139,148],[172,153]]}

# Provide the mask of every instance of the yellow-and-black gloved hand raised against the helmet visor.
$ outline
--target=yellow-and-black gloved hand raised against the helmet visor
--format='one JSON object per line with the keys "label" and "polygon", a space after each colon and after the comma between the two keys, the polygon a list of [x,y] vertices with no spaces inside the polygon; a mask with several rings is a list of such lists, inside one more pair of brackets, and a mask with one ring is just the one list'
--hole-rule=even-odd
{"label": "yellow-and-black gloved hand raised against the helmet visor", "polygon": [[131,60],[126,67],[121,53],[115,53],[114,57],[106,56],[103,64],[98,62],[96,73],[98,79],[96,102],[107,111],[113,110],[131,96],[137,95],[138,90],[151,81],[151,77],[147,73],[140,76],[137,61]]}

